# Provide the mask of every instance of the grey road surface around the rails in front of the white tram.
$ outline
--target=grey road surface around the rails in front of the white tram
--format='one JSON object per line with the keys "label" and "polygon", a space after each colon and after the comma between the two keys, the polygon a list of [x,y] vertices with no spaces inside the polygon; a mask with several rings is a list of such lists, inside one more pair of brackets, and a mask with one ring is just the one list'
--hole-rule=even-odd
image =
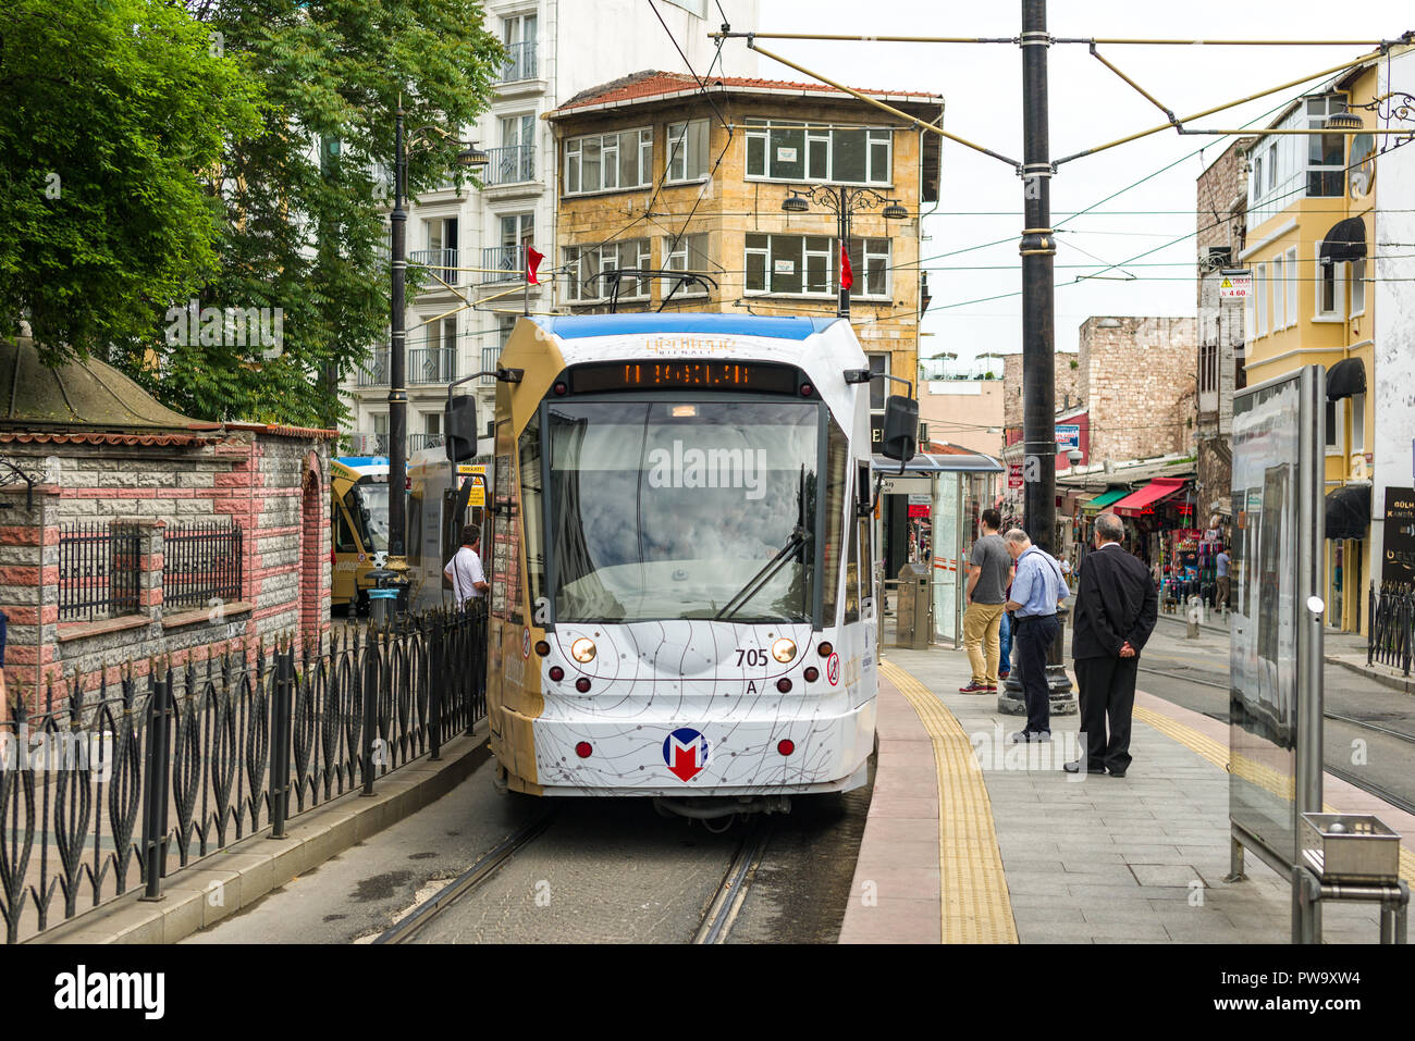
{"label": "grey road surface around the rails in front of the white tram", "polygon": [[[501,796],[484,765],[446,796],[192,943],[368,942],[535,820],[545,805]],[[730,942],[831,942],[839,935],[869,788],[795,801],[771,840]],[[647,799],[560,799],[549,827],[417,942],[683,943],[698,929],[743,830],[658,816]]]}

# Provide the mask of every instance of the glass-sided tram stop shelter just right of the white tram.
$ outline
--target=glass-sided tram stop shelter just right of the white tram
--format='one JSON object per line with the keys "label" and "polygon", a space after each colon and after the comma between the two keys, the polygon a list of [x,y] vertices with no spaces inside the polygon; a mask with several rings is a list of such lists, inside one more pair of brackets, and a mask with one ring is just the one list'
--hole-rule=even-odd
{"label": "glass-sided tram stop shelter just right of the white tram", "polygon": [[876,455],[883,478],[876,545],[884,578],[907,563],[932,571],[934,639],[962,645],[968,550],[981,533],[982,511],[996,506],[1003,467],[992,455],[930,446],[904,464]]}

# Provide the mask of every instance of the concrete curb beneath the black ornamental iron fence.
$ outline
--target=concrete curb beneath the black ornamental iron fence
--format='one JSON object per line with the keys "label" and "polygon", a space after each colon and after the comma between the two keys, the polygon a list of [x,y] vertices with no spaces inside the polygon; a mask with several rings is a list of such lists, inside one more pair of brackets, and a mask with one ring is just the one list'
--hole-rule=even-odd
{"label": "concrete curb beneath the black ornamental iron fence", "polygon": [[485,730],[446,743],[441,754],[439,762],[424,757],[379,778],[371,798],[355,789],[301,813],[284,839],[270,839],[266,826],[174,871],[163,883],[161,900],[140,900],[139,884],[24,942],[175,943],[440,799],[491,757]]}

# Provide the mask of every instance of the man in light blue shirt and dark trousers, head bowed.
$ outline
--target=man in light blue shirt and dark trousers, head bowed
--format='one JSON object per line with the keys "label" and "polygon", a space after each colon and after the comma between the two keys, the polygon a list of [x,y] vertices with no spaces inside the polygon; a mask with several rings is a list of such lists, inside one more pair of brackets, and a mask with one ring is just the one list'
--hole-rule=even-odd
{"label": "man in light blue shirt and dark trousers, head bowed", "polygon": [[1007,553],[1016,562],[1017,577],[1006,610],[1013,612],[1013,639],[1017,642],[1017,669],[1027,703],[1027,727],[1012,735],[1013,741],[1051,740],[1051,702],[1047,692],[1047,651],[1061,631],[1057,607],[1067,598],[1061,566],[1020,528],[1003,536]]}

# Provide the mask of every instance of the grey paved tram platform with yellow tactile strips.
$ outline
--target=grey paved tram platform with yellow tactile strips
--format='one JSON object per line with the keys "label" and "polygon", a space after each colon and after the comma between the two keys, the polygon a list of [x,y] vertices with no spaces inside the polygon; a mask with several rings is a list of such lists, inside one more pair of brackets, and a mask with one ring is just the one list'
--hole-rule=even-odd
{"label": "grey paved tram platform with yellow tactile strips", "polygon": [[[1288,883],[1247,853],[1230,871],[1228,727],[1136,693],[1124,778],[1067,774],[1078,716],[1047,744],[996,694],[959,694],[962,651],[882,648],[874,795],[842,943],[1288,943]],[[1143,676],[1142,676],[1143,680]],[[1074,676],[1073,676],[1074,682]],[[1415,816],[1327,774],[1327,812]],[[1375,943],[1378,905],[1323,905],[1327,943]]]}

